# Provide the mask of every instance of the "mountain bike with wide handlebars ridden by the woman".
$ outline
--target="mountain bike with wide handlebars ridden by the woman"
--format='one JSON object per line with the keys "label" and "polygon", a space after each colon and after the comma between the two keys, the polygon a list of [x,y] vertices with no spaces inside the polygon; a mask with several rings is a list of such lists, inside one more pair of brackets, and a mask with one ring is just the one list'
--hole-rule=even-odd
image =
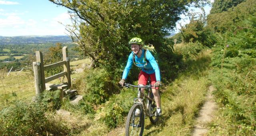
{"label": "mountain bike with wide handlebars ridden by the woman", "polygon": [[[145,116],[149,117],[150,122],[156,124],[159,117],[155,116],[156,112],[156,102],[154,100],[154,95],[152,93],[151,84],[146,86],[134,86],[132,84],[124,84],[125,87],[138,88],[137,98],[134,99],[134,104],[128,113],[126,124],[125,124],[125,135],[126,136],[142,136],[144,131],[144,120]],[[148,92],[148,95],[141,92],[144,88],[144,92]],[[141,98],[141,96],[143,96]]]}

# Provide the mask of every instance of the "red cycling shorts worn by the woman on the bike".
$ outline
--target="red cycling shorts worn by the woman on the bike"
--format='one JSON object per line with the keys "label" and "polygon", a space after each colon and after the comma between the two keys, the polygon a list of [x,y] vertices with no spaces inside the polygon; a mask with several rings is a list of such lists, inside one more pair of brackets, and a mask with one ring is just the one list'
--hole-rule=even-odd
{"label": "red cycling shorts worn by the woman on the bike", "polygon": [[[147,84],[148,82],[148,78],[150,77],[150,81],[151,84],[155,84],[156,82],[156,74],[147,74],[146,72],[140,71],[139,77],[138,77],[138,84],[143,84],[144,86]],[[154,86],[152,87],[154,88]],[[156,87],[155,89],[158,89],[158,87]]]}

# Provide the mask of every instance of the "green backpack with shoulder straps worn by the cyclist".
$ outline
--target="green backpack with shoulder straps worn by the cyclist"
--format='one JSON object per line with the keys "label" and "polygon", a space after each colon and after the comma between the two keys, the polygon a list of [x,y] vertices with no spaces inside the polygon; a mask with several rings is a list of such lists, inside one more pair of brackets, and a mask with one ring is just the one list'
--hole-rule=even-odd
{"label": "green backpack with shoulder straps worn by the cyclist", "polygon": [[[146,65],[149,63],[148,59],[146,58],[146,53],[147,53],[148,51],[151,52],[151,54],[152,54],[153,57],[155,58],[156,62],[158,63],[158,60],[156,59],[156,50],[155,50],[155,47],[154,47],[152,44],[144,45],[144,46],[142,46],[142,49],[145,50],[145,52],[144,52],[144,58],[143,58],[143,59],[146,61],[146,64],[145,64],[144,66],[146,66]],[[133,63],[134,63],[135,66],[138,66],[138,65],[136,65],[136,64],[140,64],[140,63],[136,63],[136,62],[135,62],[135,54],[133,54],[132,61],[133,61]],[[144,66],[138,66],[138,67],[144,67]]]}

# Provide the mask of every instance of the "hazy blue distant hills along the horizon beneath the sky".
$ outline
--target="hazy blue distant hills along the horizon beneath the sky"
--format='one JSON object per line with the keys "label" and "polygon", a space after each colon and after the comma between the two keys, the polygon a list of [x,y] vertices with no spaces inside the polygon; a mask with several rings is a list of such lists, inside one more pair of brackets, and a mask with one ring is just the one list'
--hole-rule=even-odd
{"label": "hazy blue distant hills along the horizon beneath the sky", "polygon": [[72,42],[68,36],[0,36],[0,45],[10,44],[44,44]]}

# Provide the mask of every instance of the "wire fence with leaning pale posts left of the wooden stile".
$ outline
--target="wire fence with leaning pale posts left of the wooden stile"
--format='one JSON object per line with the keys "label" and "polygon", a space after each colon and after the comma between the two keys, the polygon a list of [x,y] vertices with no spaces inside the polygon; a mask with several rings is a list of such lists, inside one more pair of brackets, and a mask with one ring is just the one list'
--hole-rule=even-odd
{"label": "wire fence with leaning pale posts left of the wooden stile", "polygon": [[13,100],[32,100],[36,95],[33,67],[12,67],[0,70],[0,104]]}

